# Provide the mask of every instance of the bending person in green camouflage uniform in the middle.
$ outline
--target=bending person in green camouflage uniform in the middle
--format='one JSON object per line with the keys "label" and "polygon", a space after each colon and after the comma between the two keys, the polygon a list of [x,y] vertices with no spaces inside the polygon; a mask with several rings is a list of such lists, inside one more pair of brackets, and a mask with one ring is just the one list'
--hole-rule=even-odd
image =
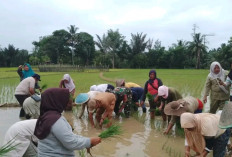
{"label": "bending person in green camouflage uniform in the middle", "polygon": [[[112,93],[116,96],[116,103],[114,107],[114,112],[116,115],[122,112],[124,109],[124,114],[128,118],[131,112],[132,106],[132,92],[130,88],[126,87],[116,87]],[[121,102],[123,101],[122,105]]]}

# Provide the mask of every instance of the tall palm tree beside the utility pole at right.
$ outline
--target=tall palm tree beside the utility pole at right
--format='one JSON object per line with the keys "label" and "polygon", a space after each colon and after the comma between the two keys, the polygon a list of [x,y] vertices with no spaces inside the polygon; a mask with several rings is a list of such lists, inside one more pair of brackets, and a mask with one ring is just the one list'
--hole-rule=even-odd
{"label": "tall palm tree beside the utility pole at right", "polygon": [[203,44],[204,38],[201,33],[193,34],[193,41],[188,42],[189,50],[196,56],[196,69],[200,68],[200,61],[203,52],[206,52],[206,46]]}

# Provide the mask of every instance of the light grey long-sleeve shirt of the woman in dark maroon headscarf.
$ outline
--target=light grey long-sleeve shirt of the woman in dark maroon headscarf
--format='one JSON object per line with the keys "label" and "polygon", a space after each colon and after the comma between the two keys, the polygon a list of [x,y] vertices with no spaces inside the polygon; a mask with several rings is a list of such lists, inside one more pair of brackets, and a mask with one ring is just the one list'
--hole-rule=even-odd
{"label": "light grey long-sleeve shirt of the woman in dark maroon headscarf", "polygon": [[61,116],[51,127],[49,135],[38,144],[38,157],[74,157],[74,150],[89,148],[90,138],[76,135]]}

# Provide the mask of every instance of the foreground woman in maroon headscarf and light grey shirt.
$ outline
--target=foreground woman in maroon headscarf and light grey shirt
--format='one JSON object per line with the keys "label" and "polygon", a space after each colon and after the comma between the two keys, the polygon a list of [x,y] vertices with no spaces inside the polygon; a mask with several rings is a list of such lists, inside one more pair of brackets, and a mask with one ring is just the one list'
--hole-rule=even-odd
{"label": "foreground woman in maroon headscarf and light grey shirt", "polygon": [[40,116],[35,127],[38,142],[38,157],[72,156],[74,150],[90,148],[101,142],[101,138],[76,135],[62,116],[69,102],[69,90],[50,88],[42,93]]}

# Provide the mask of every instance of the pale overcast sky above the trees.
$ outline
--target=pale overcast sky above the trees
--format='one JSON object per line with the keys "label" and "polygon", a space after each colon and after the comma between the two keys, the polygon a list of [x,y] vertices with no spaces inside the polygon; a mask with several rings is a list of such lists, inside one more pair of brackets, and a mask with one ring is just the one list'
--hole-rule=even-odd
{"label": "pale overcast sky above the trees", "polygon": [[13,44],[32,50],[33,41],[79,27],[96,38],[119,29],[129,41],[131,33],[143,32],[168,48],[177,40],[207,36],[207,46],[218,48],[232,37],[232,0],[0,0],[0,47]]}

